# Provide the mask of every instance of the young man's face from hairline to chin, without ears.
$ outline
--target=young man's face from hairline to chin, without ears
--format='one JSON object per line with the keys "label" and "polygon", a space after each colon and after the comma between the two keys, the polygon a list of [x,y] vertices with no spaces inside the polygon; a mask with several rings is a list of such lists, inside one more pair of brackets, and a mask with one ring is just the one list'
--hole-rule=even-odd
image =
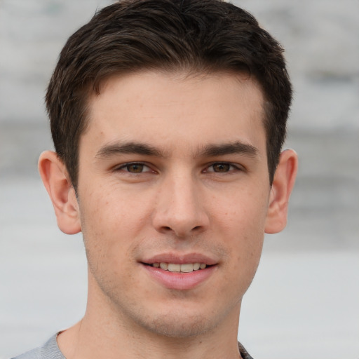
{"label": "young man's face from hairline to chin, without ears", "polygon": [[229,74],[130,74],[90,98],[78,187],[90,306],[175,337],[236,323],[271,197],[262,103]]}

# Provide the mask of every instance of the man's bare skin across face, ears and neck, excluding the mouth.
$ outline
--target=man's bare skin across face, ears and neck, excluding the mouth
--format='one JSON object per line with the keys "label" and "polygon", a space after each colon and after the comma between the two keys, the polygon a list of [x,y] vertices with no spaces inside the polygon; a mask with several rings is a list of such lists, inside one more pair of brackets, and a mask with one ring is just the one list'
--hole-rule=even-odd
{"label": "man's bare skin across face, ears and neck, excluding the mouth", "polygon": [[[67,359],[238,358],[241,299],[297,171],[284,151],[269,183],[263,101],[241,75],[112,77],[90,98],[77,198],[56,154],[41,155],[57,224],[83,232],[88,257],[86,314],[57,337]],[[163,253],[215,266],[170,289],[142,264]]]}

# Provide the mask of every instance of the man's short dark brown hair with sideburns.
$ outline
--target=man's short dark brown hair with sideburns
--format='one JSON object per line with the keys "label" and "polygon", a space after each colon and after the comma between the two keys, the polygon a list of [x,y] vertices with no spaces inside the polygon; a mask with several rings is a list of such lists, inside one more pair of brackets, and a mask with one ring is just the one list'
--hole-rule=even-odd
{"label": "man's short dark brown hair with sideburns", "polygon": [[60,53],[46,94],[55,151],[76,189],[88,96],[104,79],[141,69],[236,72],[264,93],[269,178],[278,165],[292,100],[283,48],[257,20],[220,0],[123,0],[103,8]]}

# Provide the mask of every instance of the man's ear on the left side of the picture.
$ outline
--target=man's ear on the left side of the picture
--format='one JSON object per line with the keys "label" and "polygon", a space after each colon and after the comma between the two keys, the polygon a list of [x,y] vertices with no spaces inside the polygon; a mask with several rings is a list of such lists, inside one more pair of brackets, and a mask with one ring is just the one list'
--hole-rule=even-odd
{"label": "man's ear on the left side of the picture", "polygon": [[67,234],[79,233],[79,204],[65,164],[55,152],[45,151],[39,158],[39,172],[53,202],[57,226]]}

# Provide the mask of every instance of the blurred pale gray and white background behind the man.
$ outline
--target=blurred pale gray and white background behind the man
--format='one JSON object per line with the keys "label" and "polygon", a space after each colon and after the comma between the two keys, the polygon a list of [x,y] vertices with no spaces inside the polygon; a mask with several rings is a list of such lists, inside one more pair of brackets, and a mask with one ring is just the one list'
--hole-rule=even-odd
{"label": "blurred pale gray and white background behind the man", "polygon": [[[83,316],[81,236],[56,226],[36,169],[43,96],[67,37],[114,1],[0,0],[0,359]],[[234,1],[286,49],[287,229],[267,236],[238,338],[256,359],[359,358],[359,1]]]}

